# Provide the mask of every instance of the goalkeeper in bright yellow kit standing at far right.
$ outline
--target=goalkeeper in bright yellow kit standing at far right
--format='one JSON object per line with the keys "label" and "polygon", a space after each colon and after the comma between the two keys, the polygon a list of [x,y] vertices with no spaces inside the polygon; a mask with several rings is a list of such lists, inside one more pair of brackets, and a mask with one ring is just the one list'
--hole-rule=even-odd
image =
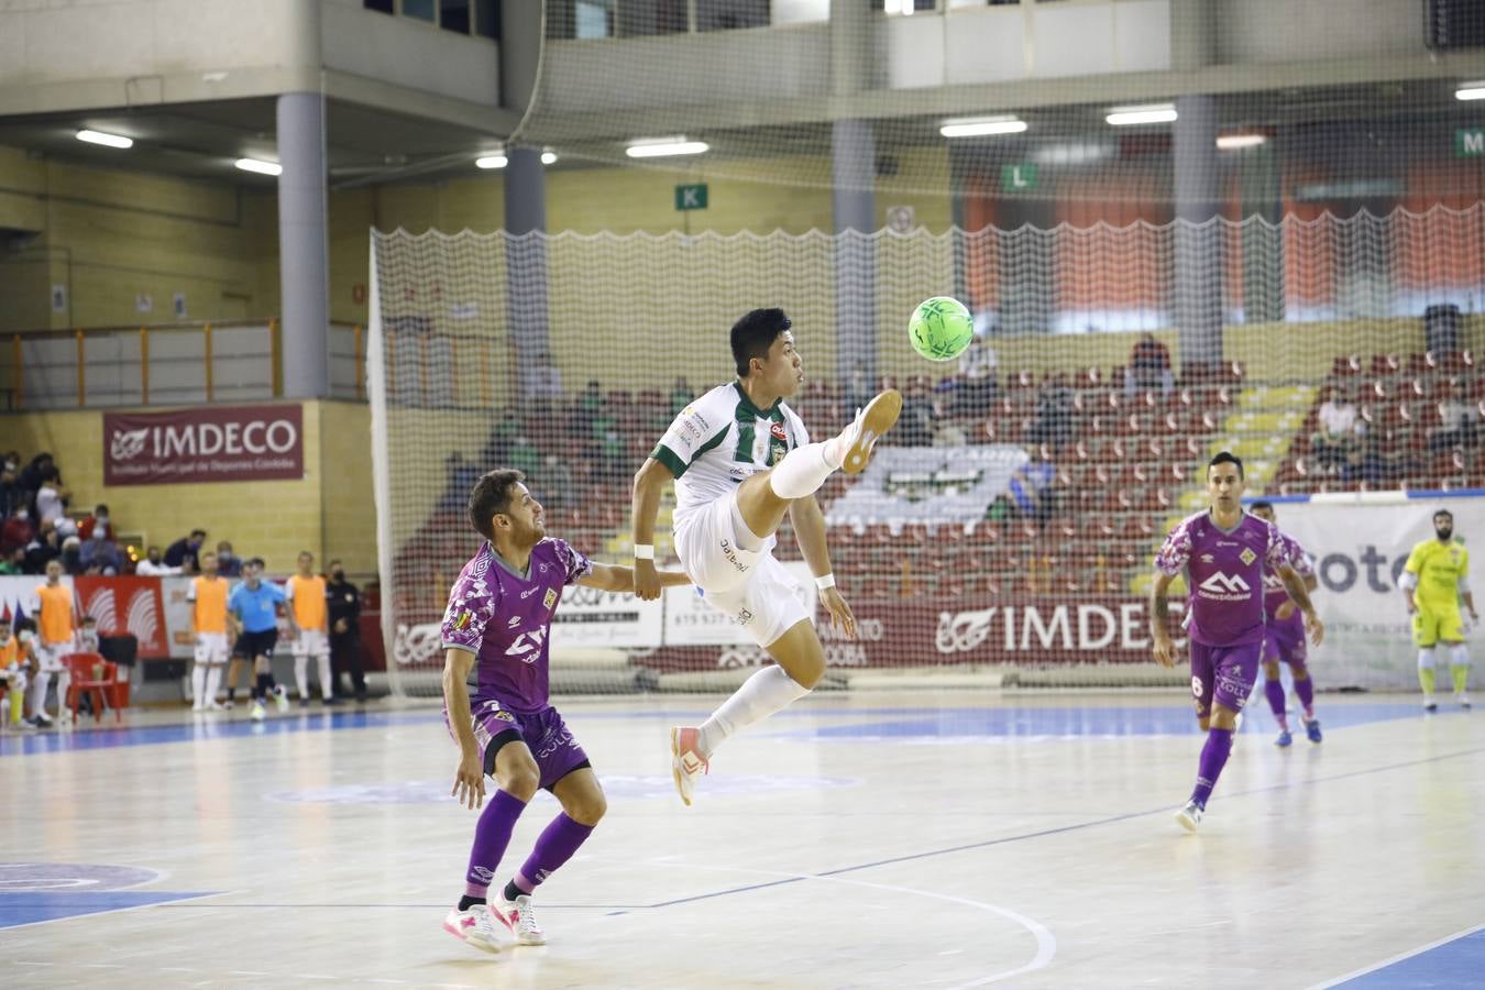
{"label": "goalkeeper in bright yellow kit standing at far right", "polygon": [[1461,708],[1469,708],[1470,699],[1464,695],[1464,687],[1470,677],[1470,653],[1464,649],[1461,598],[1470,610],[1470,622],[1481,620],[1469,582],[1470,555],[1463,543],[1454,540],[1454,514],[1448,509],[1433,514],[1433,533],[1437,539],[1423,540],[1412,548],[1399,580],[1408,601],[1408,614],[1412,616],[1412,641],[1418,647],[1423,708],[1439,709],[1433,701],[1433,647],[1439,643],[1449,647],[1454,701]]}

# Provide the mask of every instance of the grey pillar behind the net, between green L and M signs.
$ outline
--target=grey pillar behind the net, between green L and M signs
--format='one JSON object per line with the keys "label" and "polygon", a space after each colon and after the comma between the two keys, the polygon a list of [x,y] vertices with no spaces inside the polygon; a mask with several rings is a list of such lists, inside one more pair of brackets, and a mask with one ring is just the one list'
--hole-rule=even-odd
{"label": "grey pillar behind the net, between green L and M signs", "polygon": [[1216,104],[1176,99],[1172,165],[1176,180],[1175,316],[1181,364],[1222,359],[1222,227],[1218,215]]}

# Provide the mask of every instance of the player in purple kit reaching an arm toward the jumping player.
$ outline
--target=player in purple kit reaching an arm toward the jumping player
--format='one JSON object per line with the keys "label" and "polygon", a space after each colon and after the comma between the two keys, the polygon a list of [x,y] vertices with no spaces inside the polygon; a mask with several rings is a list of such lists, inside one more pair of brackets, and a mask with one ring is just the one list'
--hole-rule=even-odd
{"label": "player in purple kit reaching an arm toward the jumping player", "polygon": [[[546,539],[542,506],[523,481],[521,472],[505,469],[475,482],[469,521],[486,543],[454,582],[443,623],[444,715],[459,742],[453,794],[475,809],[484,806],[484,776],[499,784],[480,813],[465,892],[444,929],[486,951],[499,951],[496,923],[521,945],[546,941],[530,895],[578,852],[607,807],[587,754],[546,698],[548,634],[561,589],[634,591],[628,567],[594,564]],[[662,585],[691,583],[680,571],[659,576]],[[515,819],[538,788],[549,790],[563,810],[490,905],[490,882]]]}

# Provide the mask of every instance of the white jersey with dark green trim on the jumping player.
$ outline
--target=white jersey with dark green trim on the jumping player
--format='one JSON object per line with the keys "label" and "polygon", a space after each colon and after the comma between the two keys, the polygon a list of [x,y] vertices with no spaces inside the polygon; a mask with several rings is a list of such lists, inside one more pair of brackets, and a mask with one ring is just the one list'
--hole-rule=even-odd
{"label": "white jersey with dark green trim on the jumping player", "polygon": [[711,389],[680,411],[650,454],[676,475],[674,528],[808,442],[805,422],[783,399],[760,410],[737,381]]}

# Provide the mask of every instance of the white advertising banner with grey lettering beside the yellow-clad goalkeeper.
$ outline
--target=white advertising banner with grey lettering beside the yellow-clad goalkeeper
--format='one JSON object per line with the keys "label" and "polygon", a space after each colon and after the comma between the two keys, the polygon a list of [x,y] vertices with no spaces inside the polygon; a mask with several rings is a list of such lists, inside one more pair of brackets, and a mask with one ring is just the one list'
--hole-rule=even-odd
{"label": "white advertising banner with grey lettering beside the yellow-clad goalkeeper", "polygon": [[[1325,644],[1311,652],[1311,666],[1322,689],[1417,689],[1418,652],[1397,576],[1414,545],[1433,539],[1440,508],[1454,514],[1466,546],[1472,539],[1485,546],[1481,497],[1331,496],[1274,506],[1279,528],[1316,558],[1320,588],[1313,594]],[[1479,561],[1470,564],[1478,571]]]}

